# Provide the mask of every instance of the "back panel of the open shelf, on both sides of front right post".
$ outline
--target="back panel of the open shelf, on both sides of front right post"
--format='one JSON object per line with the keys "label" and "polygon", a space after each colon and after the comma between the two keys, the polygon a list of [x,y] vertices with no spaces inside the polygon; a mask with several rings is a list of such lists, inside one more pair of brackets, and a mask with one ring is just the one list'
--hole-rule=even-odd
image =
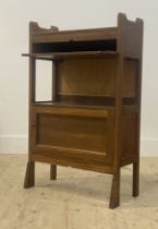
{"label": "back panel of the open shelf, on both sides of front right post", "polygon": [[[125,59],[122,96],[135,97],[136,61]],[[72,96],[116,96],[117,58],[64,60],[59,63],[57,93]]]}

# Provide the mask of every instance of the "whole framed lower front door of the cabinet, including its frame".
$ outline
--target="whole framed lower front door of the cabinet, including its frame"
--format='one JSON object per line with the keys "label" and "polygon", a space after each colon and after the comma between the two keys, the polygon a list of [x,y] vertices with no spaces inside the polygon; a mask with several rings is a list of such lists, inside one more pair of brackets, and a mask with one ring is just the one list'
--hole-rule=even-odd
{"label": "whole framed lower front door of the cabinet, including its frame", "polygon": [[109,165],[113,158],[113,111],[35,107],[32,152],[40,156]]}

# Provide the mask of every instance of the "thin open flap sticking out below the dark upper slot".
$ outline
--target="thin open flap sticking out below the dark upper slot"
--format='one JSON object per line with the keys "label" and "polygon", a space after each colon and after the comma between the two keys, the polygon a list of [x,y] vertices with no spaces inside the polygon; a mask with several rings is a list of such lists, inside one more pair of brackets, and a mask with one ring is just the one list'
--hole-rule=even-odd
{"label": "thin open flap sticking out below the dark upper slot", "polygon": [[74,52],[46,52],[46,53],[23,53],[23,57],[34,57],[38,60],[82,59],[82,58],[107,58],[114,57],[116,51],[74,51]]}

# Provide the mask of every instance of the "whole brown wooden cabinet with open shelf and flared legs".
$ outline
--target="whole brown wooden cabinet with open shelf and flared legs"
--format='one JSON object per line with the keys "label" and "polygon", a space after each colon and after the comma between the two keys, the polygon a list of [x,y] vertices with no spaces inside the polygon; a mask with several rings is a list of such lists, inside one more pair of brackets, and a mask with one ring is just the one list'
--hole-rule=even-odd
{"label": "whole brown wooden cabinet with open shelf and flared legs", "polygon": [[[121,167],[133,164],[138,195],[143,21],[118,15],[118,26],[59,31],[29,24],[29,155],[35,161],[113,176],[110,208],[120,203]],[[52,99],[36,100],[36,61],[52,62]],[[45,81],[45,75],[44,75]]]}

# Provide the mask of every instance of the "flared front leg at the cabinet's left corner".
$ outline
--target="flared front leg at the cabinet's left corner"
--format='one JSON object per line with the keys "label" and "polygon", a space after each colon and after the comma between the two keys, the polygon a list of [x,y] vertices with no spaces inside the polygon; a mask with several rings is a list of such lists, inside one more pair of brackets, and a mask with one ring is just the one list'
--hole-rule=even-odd
{"label": "flared front leg at the cabinet's left corner", "polygon": [[24,188],[27,189],[34,185],[35,185],[35,162],[28,161],[26,167]]}

